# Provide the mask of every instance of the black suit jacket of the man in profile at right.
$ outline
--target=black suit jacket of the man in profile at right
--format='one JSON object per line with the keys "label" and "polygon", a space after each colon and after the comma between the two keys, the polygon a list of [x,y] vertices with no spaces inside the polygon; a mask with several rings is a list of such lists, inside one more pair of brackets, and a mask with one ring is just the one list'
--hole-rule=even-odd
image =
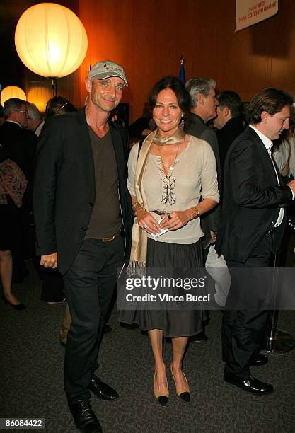
{"label": "black suit jacket of the man in profile at right", "polygon": [[[224,173],[224,200],[215,248],[226,259],[245,262],[276,223],[279,208],[291,203],[292,192],[288,186],[278,185],[270,155],[250,127],[229,148]],[[279,183],[283,185],[280,175]],[[282,241],[286,213],[274,231],[274,253]]]}

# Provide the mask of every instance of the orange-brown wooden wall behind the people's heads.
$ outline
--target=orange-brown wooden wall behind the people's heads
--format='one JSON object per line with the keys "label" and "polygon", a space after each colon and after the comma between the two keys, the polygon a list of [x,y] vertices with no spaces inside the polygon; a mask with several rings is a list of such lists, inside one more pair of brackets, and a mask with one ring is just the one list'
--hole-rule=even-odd
{"label": "orange-brown wooden wall behind the people's heads", "polygon": [[279,13],[234,33],[234,0],[80,0],[88,33],[83,79],[90,64],[113,59],[123,64],[129,88],[130,120],[141,115],[149,90],[166,74],[178,75],[185,54],[187,79],[216,79],[219,90],[238,91],[249,100],[276,86],[295,94],[295,1],[280,0]]}

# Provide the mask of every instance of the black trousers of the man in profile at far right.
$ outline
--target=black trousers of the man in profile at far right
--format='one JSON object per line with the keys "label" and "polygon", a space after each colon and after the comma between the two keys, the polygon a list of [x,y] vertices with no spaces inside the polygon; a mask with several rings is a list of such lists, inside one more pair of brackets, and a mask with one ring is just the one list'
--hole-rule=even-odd
{"label": "black trousers of the man in profile at far right", "polygon": [[264,301],[272,287],[257,268],[270,267],[271,257],[272,234],[267,233],[245,263],[226,260],[231,289],[222,321],[224,374],[247,379],[260,350],[268,314]]}

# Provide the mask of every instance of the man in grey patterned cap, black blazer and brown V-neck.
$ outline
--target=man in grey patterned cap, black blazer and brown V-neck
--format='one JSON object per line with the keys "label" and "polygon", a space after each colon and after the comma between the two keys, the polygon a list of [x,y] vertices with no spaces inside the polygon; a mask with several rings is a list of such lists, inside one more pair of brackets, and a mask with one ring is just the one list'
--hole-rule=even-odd
{"label": "man in grey patterned cap, black blazer and brown V-neck", "polygon": [[34,187],[41,265],[64,276],[71,313],[64,361],[69,409],[81,432],[101,432],[90,392],[117,392],[94,375],[117,270],[128,260],[131,202],[126,187],[127,133],[108,121],[127,79],[119,64],[96,63],[86,78],[86,108],[46,122],[37,149]]}

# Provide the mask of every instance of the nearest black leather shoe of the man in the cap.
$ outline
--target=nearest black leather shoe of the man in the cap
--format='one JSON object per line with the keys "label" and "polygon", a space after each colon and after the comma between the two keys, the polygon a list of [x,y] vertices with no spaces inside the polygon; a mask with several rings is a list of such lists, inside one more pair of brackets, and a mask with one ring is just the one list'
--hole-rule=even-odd
{"label": "nearest black leather shoe of the man in the cap", "polygon": [[91,408],[88,400],[77,400],[69,403],[69,410],[73,415],[75,425],[79,432],[103,433],[100,422]]}

